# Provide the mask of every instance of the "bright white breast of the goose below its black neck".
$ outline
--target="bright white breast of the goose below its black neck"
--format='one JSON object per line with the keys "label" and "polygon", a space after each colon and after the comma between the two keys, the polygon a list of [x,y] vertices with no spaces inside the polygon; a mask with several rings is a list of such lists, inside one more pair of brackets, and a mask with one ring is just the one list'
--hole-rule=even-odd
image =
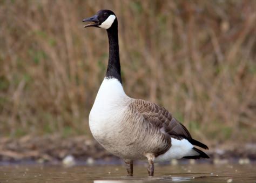
{"label": "bright white breast of the goose below its black neck", "polygon": [[96,140],[103,137],[103,133],[113,131],[122,121],[128,99],[116,78],[104,78],[89,115],[90,130]]}

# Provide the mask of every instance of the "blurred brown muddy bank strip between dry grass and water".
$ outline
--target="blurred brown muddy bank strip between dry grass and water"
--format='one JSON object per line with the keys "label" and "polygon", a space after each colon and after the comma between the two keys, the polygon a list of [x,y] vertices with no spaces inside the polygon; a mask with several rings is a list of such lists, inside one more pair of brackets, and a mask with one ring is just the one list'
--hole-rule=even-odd
{"label": "blurred brown muddy bank strip between dry grass and water", "polygon": [[[231,162],[232,159],[240,158],[256,160],[256,143],[225,142],[210,147],[206,153],[211,157],[209,161],[212,163],[216,158]],[[108,161],[114,158],[96,140],[85,135],[72,138],[63,138],[60,135],[0,138],[0,166],[3,161],[56,162],[62,161],[68,155],[78,161],[86,161],[88,158]]]}

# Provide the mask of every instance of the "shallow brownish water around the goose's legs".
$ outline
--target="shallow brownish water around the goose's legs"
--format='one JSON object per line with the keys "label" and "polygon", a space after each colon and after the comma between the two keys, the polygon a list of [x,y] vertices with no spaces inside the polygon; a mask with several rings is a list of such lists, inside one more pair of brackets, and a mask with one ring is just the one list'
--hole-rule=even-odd
{"label": "shallow brownish water around the goose's legs", "polygon": [[256,182],[255,164],[249,165],[156,165],[147,177],[143,165],[134,166],[134,177],[125,177],[121,165],[0,166],[0,182]]}

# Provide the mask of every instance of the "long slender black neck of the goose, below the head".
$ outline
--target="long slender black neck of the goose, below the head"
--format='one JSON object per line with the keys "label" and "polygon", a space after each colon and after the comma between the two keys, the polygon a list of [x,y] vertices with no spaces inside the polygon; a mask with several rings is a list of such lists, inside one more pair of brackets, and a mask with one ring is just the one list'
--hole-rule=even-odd
{"label": "long slender black neck of the goose, below the head", "polygon": [[117,20],[114,21],[111,28],[107,29],[107,36],[109,36],[109,63],[107,64],[106,77],[116,78],[122,84]]}

